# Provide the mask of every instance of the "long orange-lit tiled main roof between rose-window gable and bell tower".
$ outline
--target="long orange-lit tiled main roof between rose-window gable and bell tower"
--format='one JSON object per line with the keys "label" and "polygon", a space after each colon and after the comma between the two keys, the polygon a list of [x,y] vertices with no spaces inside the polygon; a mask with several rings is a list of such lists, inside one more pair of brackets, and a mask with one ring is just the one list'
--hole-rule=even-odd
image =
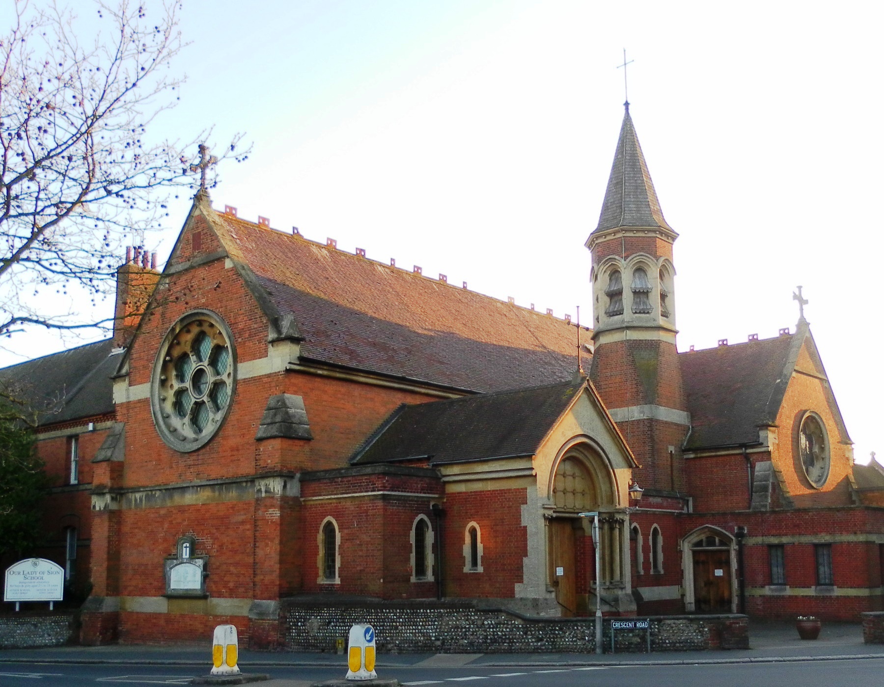
{"label": "long orange-lit tiled main roof between rose-window gable and bell tower", "polygon": [[265,312],[293,316],[302,358],[476,391],[568,380],[575,372],[575,329],[566,321],[209,213],[259,301],[268,301]]}

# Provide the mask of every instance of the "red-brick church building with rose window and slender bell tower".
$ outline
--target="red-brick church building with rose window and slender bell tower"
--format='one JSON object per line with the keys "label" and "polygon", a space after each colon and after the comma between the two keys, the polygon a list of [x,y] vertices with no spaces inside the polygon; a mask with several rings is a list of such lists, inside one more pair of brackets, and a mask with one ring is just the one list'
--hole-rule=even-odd
{"label": "red-brick church building with rose window and slender bell tower", "polygon": [[40,413],[34,555],[65,566],[81,641],[229,622],[269,648],[323,598],[880,610],[884,468],[853,464],[803,311],[679,351],[676,238],[629,106],[579,335],[197,193],[162,271],[119,268],[111,338],[0,371]]}

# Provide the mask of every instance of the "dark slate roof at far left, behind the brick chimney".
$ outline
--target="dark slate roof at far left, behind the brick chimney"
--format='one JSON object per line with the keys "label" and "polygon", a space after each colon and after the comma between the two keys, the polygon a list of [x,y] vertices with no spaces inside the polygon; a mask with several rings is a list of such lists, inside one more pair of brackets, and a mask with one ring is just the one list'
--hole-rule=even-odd
{"label": "dark slate roof at far left, behind the brick chimney", "polygon": [[61,351],[0,370],[0,387],[27,403],[41,425],[114,411],[118,356],[113,339]]}

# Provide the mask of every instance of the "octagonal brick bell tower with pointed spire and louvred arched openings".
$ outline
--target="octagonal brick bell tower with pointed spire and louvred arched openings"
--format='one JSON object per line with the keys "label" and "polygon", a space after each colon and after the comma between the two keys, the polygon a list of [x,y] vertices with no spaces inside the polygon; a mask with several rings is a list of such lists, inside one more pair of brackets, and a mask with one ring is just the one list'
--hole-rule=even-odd
{"label": "octagonal brick bell tower with pointed spire and louvred arched openings", "polygon": [[676,238],[626,103],[598,227],[586,241],[595,343],[590,376],[642,464],[636,481],[664,491],[684,487],[681,449],[690,427],[675,349]]}

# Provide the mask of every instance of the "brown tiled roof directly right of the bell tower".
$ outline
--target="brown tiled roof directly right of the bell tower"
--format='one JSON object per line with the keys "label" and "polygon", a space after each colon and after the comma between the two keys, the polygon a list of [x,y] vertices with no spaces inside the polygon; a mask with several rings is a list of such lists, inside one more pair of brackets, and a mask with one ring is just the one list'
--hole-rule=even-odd
{"label": "brown tiled roof directly right of the bell tower", "polygon": [[777,336],[679,354],[691,430],[687,449],[758,443],[788,383],[789,359],[804,337]]}

